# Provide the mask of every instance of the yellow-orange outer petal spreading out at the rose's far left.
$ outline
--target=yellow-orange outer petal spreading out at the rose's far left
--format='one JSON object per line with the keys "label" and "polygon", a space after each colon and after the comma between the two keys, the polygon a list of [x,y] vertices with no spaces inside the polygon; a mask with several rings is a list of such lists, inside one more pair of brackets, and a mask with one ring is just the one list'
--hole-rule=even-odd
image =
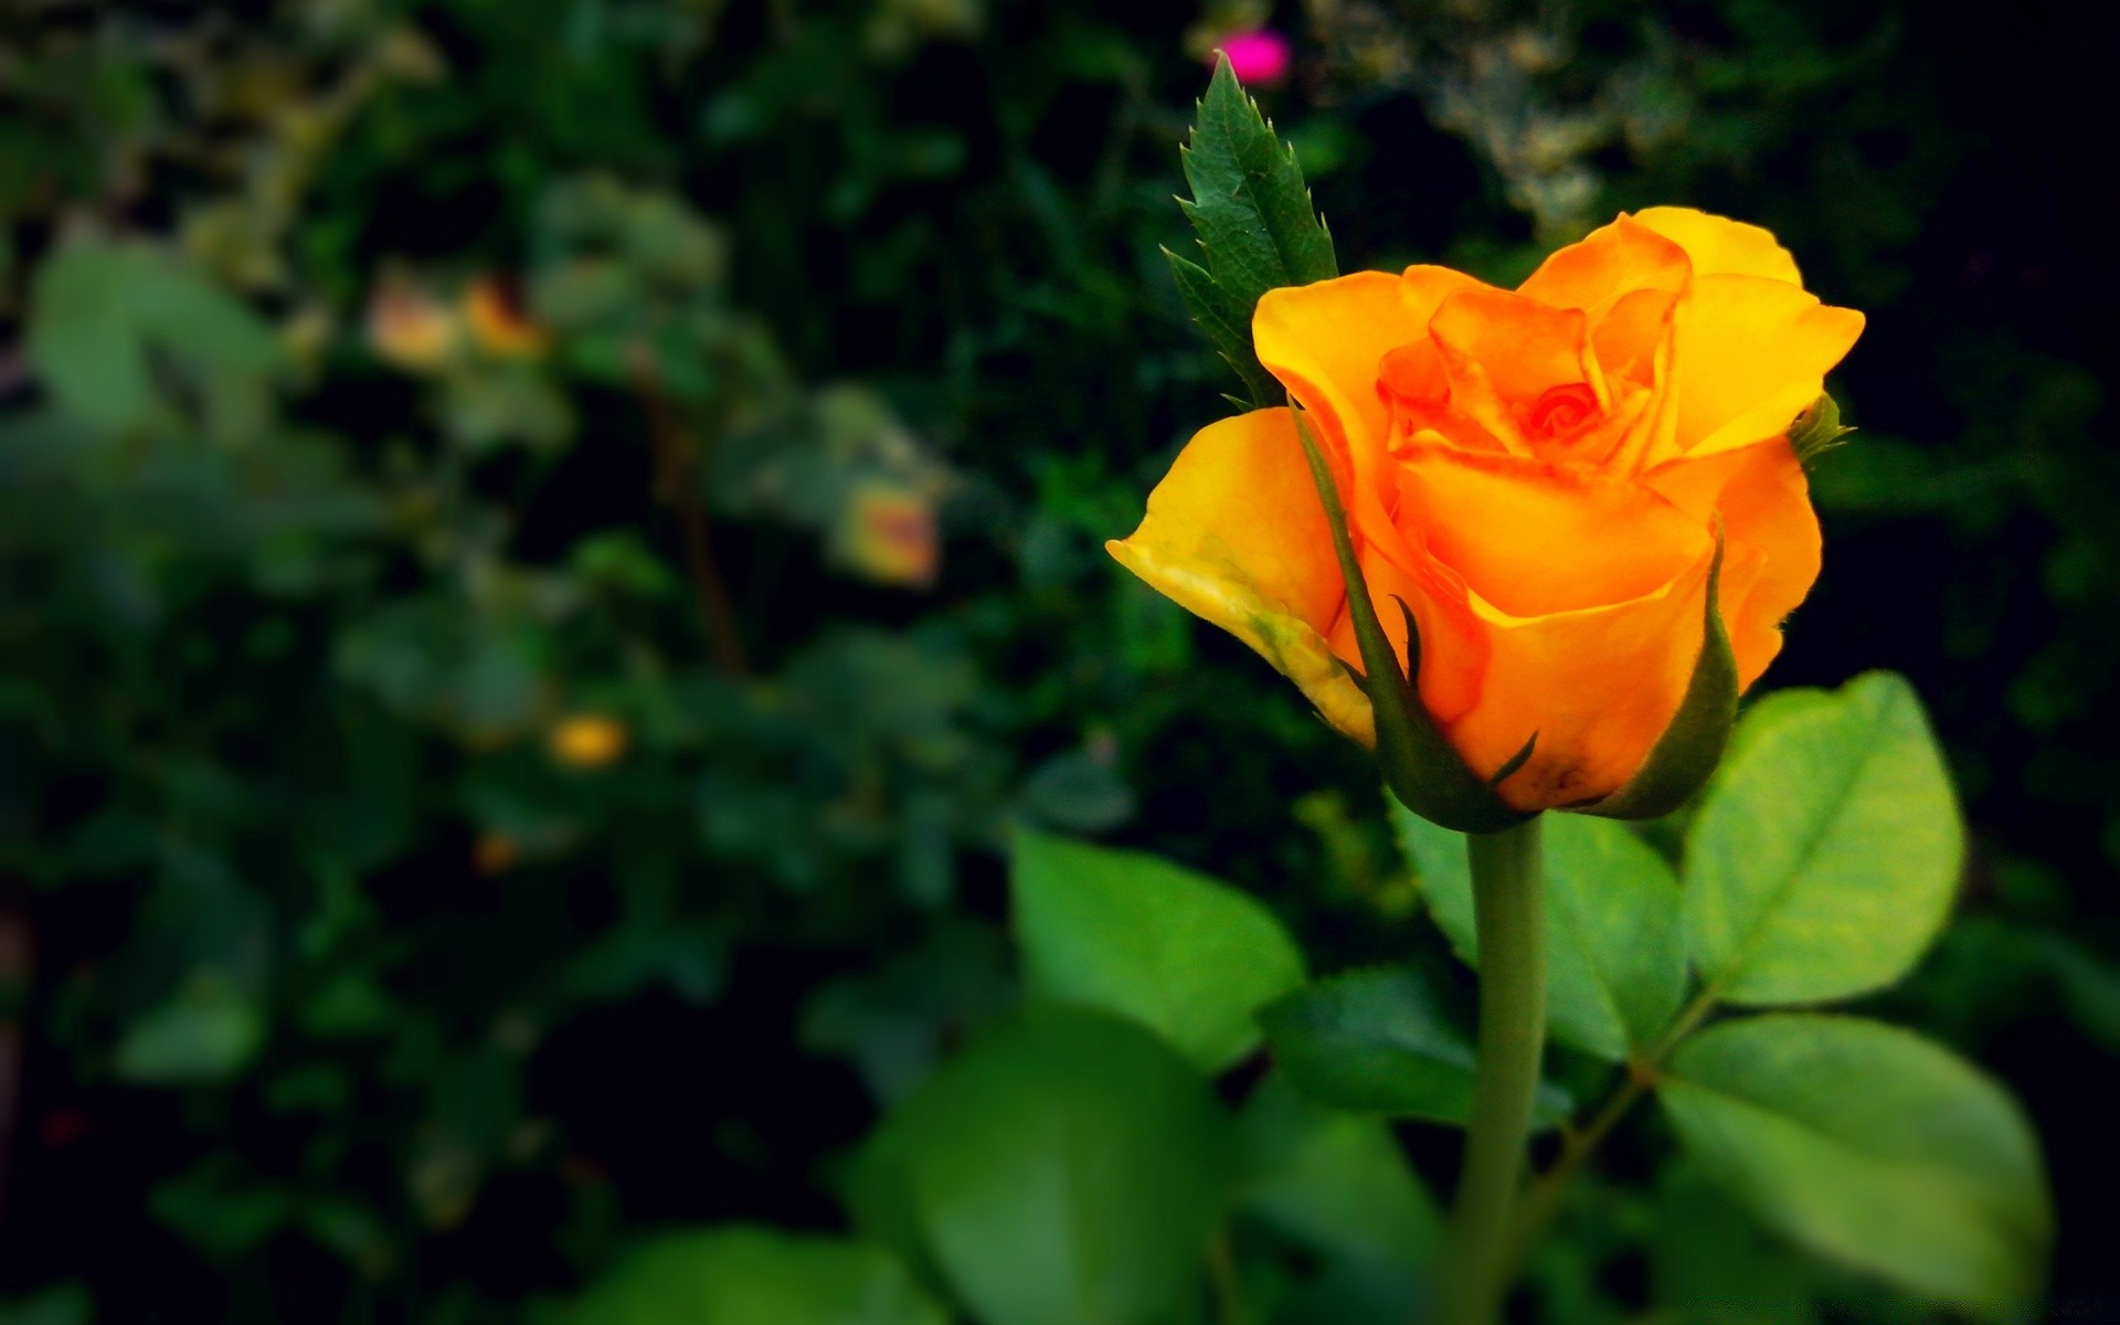
{"label": "yellow-orange outer petal spreading out at the rose's far left", "polygon": [[1149,494],[1141,528],[1105,549],[1257,649],[1327,723],[1376,744],[1370,700],[1325,642],[1346,587],[1287,409],[1255,409],[1194,435]]}

